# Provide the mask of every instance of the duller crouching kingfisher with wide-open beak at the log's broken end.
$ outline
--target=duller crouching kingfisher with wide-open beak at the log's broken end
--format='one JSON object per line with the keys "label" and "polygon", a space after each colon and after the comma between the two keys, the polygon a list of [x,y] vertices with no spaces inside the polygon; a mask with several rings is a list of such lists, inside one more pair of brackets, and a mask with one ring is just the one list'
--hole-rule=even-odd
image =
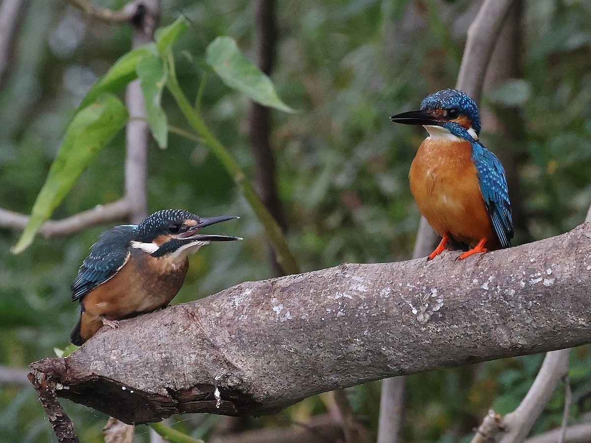
{"label": "duller crouching kingfisher with wide-open beak at the log's broken end", "polygon": [[235,216],[199,217],[180,209],[155,212],[139,224],[115,226],[99,235],[72,283],[80,318],[70,342],[82,345],[102,327],[163,308],[183,285],[189,254],[209,242],[242,240],[201,234]]}

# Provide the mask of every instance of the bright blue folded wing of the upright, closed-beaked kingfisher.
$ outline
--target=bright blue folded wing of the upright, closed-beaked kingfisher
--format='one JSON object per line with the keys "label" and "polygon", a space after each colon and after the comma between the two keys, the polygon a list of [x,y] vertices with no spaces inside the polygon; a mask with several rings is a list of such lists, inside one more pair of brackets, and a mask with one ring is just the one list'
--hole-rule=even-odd
{"label": "bright blue folded wing of the upright, closed-beaked kingfisher", "polygon": [[514,232],[505,170],[496,155],[478,141],[472,143],[472,159],[478,170],[480,192],[496,236],[502,247],[509,247]]}

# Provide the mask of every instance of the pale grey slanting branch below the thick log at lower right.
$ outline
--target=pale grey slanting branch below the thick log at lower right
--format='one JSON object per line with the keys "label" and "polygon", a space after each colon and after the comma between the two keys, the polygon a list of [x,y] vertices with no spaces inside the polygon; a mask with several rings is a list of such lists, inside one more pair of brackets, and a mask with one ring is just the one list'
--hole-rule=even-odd
{"label": "pale grey slanting branch below the thick log at lower right", "polygon": [[548,352],[540,372],[517,409],[505,415],[506,435],[501,443],[521,443],[530,433],[556,386],[569,370],[570,349]]}

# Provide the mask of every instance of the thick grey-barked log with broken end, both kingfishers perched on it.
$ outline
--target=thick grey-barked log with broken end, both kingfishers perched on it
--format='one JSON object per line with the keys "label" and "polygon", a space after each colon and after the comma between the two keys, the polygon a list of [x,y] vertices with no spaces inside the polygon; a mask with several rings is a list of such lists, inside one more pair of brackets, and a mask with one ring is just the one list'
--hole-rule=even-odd
{"label": "thick grey-barked log with broken end, both kingfishers perched on it", "polygon": [[529,245],[246,282],[33,363],[128,424],[261,415],[372,380],[591,343],[591,223]]}

